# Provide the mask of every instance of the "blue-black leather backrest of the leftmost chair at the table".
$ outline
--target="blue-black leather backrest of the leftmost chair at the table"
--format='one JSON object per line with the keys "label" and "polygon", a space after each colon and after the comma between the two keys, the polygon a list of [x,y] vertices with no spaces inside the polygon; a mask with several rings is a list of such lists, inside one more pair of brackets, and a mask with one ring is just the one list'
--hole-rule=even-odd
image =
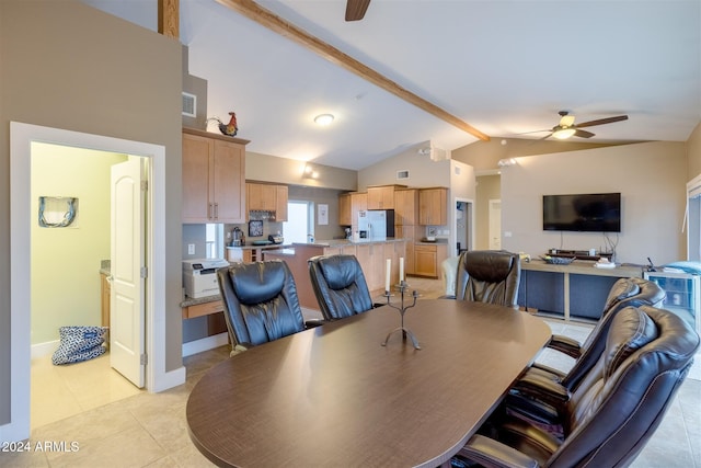
{"label": "blue-black leather backrest of the leftmost chair at the table", "polygon": [[225,319],[233,344],[257,345],[304,329],[297,287],[280,260],[217,270]]}

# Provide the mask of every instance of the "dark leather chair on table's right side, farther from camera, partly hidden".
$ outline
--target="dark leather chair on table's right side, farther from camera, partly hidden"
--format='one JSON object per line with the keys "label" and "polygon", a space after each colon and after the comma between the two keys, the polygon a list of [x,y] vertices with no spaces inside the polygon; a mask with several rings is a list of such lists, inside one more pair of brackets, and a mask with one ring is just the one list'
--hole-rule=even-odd
{"label": "dark leather chair on table's right side, farther from camera, partly hidden", "polygon": [[517,380],[509,399],[513,400],[518,395],[544,401],[566,399],[604,352],[606,336],[617,312],[628,306],[659,307],[664,298],[665,292],[654,282],[640,277],[618,279],[609,292],[601,318],[583,344],[559,334],[551,338],[549,347],[575,359],[570,370],[565,373],[536,362]]}

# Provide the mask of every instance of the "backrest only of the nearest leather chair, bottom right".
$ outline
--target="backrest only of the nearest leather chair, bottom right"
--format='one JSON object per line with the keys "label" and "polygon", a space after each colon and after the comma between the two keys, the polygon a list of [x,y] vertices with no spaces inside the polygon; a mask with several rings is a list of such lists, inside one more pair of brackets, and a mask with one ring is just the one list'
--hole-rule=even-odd
{"label": "backrest only of the nearest leather chair, bottom right", "polygon": [[698,349],[699,335],[674,312],[620,310],[604,353],[567,402],[565,440],[547,465],[628,466],[659,425]]}

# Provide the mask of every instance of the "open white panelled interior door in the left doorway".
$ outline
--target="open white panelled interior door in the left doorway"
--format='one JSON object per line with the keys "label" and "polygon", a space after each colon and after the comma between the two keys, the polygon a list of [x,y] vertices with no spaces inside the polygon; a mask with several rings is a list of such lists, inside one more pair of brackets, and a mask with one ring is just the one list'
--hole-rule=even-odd
{"label": "open white panelled interior door in the left doorway", "polygon": [[119,374],[145,385],[145,184],[141,158],[112,167],[110,362]]}

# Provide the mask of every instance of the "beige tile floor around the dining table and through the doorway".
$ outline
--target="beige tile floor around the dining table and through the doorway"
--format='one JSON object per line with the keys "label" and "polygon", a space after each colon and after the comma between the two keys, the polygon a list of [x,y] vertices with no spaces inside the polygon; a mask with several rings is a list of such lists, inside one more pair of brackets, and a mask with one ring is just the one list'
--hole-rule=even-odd
{"label": "beige tile floor around the dining table and through the doorway", "polygon": [[[412,279],[424,297],[441,294],[438,282]],[[548,322],[553,332],[577,340],[584,340],[591,328]],[[189,441],[185,404],[202,375],[228,356],[228,346],[221,346],[184,358],[186,383],[161,393],[140,391],[126,383],[110,368],[106,355],[60,367],[53,366],[50,358],[36,359],[32,363],[32,449],[0,452],[0,466],[211,467]],[[539,361],[568,365],[566,358],[549,350]],[[701,355],[632,466],[701,468]]]}

